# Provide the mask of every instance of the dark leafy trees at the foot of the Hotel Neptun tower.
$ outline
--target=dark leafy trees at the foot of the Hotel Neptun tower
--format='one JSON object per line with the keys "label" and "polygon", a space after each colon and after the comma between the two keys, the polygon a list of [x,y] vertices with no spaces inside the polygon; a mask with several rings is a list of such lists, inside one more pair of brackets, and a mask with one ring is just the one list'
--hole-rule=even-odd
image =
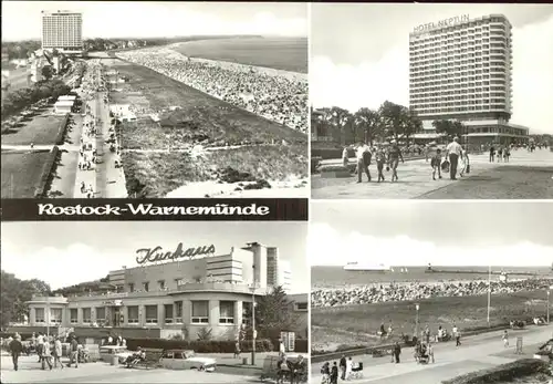
{"label": "dark leafy trees at the foot of the Hotel Neptun tower", "polygon": [[[372,145],[392,138],[408,142],[413,134],[422,131],[422,123],[415,111],[389,101],[384,102],[378,110],[362,107],[351,112],[333,106],[317,112],[321,115],[315,124],[342,145],[355,142]],[[438,134],[445,136],[460,136],[466,132],[465,125],[457,121],[435,121],[432,125]]]}

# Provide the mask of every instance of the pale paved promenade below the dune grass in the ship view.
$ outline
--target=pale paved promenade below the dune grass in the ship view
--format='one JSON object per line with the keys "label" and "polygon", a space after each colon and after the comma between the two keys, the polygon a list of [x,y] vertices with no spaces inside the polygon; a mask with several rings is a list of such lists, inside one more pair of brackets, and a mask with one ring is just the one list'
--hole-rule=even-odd
{"label": "pale paved promenade below the dune grass in the ship view", "polygon": [[[417,364],[413,356],[413,347],[401,351],[401,363],[390,363],[389,356],[373,359],[372,356],[353,357],[364,365],[364,377],[355,383],[400,384],[425,383],[439,384],[445,380],[461,374],[497,366],[520,357],[531,356],[538,344],[545,343],[553,336],[553,324],[530,328],[523,331],[511,331],[511,345],[505,349],[501,341],[502,331],[483,333],[461,340],[462,345],[455,343],[435,344],[434,364]],[[523,336],[524,355],[514,354],[515,336]],[[526,345],[526,347],[524,347]],[[311,383],[321,383],[320,369],[322,363],[312,365]]]}

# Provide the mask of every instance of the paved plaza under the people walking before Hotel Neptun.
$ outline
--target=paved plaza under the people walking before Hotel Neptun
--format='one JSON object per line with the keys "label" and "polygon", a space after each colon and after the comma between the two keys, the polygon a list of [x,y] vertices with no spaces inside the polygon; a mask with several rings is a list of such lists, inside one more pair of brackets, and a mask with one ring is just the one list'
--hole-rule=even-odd
{"label": "paved plaza under the people walking before Hotel Neptun", "polygon": [[[405,199],[405,198],[493,198],[493,190],[482,193],[482,185],[489,184],[490,179],[501,178],[501,172],[505,174],[501,185],[497,188],[499,198],[553,198],[553,153],[541,149],[529,153],[525,149],[513,151],[510,163],[489,163],[488,155],[471,156],[471,173],[466,177],[450,180],[448,175],[442,179],[432,180],[430,164],[425,159],[406,162],[399,164],[399,181],[390,183],[390,173],[385,173],[386,181],[376,183],[376,166],[371,166],[372,183],[367,183],[363,175],[363,183],[357,184],[357,176],[348,178],[321,178],[314,175],[311,178],[312,197],[315,199]],[[501,181],[501,180],[500,180]],[[447,194],[445,191],[460,188],[461,193]],[[491,185],[490,185],[491,186]],[[538,189],[534,186],[539,186]],[[444,193],[436,194],[445,188]],[[517,190],[522,188],[515,196],[504,196],[505,189]],[[453,196],[451,196],[453,195]],[[524,195],[525,197],[521,197]],[[540,195],[539,197],[535,197]],[[545,196],[544,196],[545,195]]]}

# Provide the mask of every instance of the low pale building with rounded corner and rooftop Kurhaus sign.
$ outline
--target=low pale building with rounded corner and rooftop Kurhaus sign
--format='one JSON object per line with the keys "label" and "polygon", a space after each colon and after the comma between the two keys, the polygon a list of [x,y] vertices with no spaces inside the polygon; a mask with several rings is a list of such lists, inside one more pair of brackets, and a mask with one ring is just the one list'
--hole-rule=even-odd
{"label": "low pale building with rounded corner and rooftop Kurhaus sign", "polygon": [[174,251],[155,247],[136,252],[138,267],[109,272],[111,291],[33,298],[29,325],[58,326],[59,333],[88,328],[158,338],[185,328],[195,335],[207,328],[215,338],[232,338],[250,323],[246,312],[254,297],[291,283],[290,264],[280,260],[278,248],[258,242],[222,255],[216,255],[215,246],[186,249],[181,243]]}

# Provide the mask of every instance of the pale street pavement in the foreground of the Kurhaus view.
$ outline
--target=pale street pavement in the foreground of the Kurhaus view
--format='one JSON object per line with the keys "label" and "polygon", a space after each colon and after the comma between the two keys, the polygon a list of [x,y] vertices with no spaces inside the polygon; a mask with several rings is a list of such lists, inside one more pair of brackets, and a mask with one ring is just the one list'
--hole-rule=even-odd
{"label": "pale street pavement in the foreground of the Kurhaus view", "polygon": [[[66,359],[62,360],[65,362]],[[20,359],[19,371],[13,371],[10,356],[2,356],[2,383],[254,383],[257,377],[169,370],[127,370],[104,362],[81,364],[79,369],[65,367],[52,371],[40,370],[36,356]]]}

